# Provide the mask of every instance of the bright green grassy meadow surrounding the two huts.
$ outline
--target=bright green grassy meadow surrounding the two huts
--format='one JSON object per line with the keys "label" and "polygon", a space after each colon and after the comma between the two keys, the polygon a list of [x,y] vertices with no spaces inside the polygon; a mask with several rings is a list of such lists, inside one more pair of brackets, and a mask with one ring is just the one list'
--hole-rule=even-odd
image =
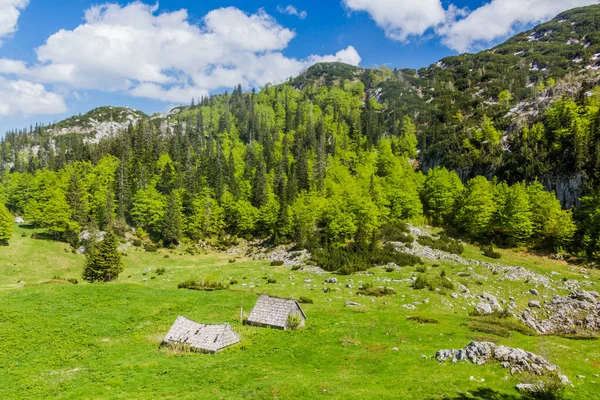
{"label": "bright green grassy meadow surrounding the two huts", "polygon": [[[361,283],[379,285],[382,279],[413,276],[414,267],[391,273],[373,268],[372,276],[338,276],[340,284],[330,285],[333,290],[324,293],[323,280],[332,275],[245,258],[230,263],[232,256],[224,253],[191,256],[180,250],[146,253],[132,248],[116,282],[91,285],[80,279],[84,256],[72,254],[63,243],[31,239],[30,233],[18,228],[11,245],[0,248],[2,399],[520,398],[514,387],[523,377],[511,376],[498,364],[439,364],[431,359],[439,349],[461,348],[473,339],[543,355],[573,381],[568,398],[600,399],[600,378],[594,377],[600,374],[598,341],[473,332],[465,326],[473,308],[469,299],[414,290],[407,282],[386,283],[396,289],[394,296],[355,294]],[[585,273],[588,280],[598,282],[593,271],[502,253],[502,263],[549,276],[555,271],[559,274],[552,279],[557,281],[584,280]],[[483,259],[471,246],[464,256]],[[166,273],[158,275],[159,267]],[[427,274],[441,269],[473,293],[487,290],[501,298],[514,296],[519,305],[526,304],[526,292],[534,287],[499,282],[484,268],[469,270],[485,278],[477,281],[458,277],[467,271],[458,265],[430,264]],[[77,278],[80,283],[53,277]],[[177,289],[186,279],[206,277],[238,283],[213,292]],[[277,283],[267,284],[266,278]],[[541,296],[551,295],[538,289]],[[303,305],[307,327],[278,331],[240,324],[240,307],[247,315],[259,293],[313,299],[314,304]],[[346,307],[346,301],[362,306]],[[416,310],[402,307],[413,302],[421,303]],[[204,323],[228,322],[242,342],[216,355],[159,348],[178,315]],[[439,324],[422,325],[409,316],[435,318]]]}

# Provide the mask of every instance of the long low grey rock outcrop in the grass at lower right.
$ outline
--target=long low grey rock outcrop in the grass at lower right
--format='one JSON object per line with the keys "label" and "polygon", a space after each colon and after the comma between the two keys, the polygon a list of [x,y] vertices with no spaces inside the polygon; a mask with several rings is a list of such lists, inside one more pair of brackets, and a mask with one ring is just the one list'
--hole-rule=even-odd
{"label": "long low grey rock outcrop in the grass at lower right", "polygon": [[523,349],[499,346],[491,342],[471,342],[460,350],[440,350],[435,354],[435,358],[440,362],[447,360],[452,362],[470,361],[477,365],[496,360],[502,367],[510,368],[511,374],[530,372],[543,375],[558,370],[556,365],[537,354]]}

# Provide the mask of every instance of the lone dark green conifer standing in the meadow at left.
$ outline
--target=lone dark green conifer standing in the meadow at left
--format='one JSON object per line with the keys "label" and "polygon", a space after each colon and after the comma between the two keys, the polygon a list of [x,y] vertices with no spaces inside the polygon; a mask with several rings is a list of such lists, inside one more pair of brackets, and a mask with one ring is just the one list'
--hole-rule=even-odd
{"label": "lone dark green conifer standing in the meadow at left", "polygon": [[123,260],[118,251],[119,242],[112,231],[104,236],[100,245],[92,246],[86,255],[83,279],[88,282],[110,282],[123,272]]}

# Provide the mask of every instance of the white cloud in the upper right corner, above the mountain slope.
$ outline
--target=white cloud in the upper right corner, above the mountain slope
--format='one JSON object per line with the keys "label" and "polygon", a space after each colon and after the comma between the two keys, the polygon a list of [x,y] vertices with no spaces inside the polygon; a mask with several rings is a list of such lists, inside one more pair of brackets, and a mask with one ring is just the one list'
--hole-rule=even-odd
{"label": "white cloud in the upper right corner, above the mountain slope", "polygon": [[438,29],[443,43],[457,51],[507,37],[518,27],[547,21],[562,11],[597,4],[598,0],[492,0],[465,18]]}

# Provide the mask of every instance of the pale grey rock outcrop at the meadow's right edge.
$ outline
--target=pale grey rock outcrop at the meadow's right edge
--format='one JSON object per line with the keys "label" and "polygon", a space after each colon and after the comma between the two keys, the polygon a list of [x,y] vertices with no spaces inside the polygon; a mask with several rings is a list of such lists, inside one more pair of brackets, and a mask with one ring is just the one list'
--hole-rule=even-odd
{"label": "pale grey rock outcrop at the meadow's right edge", "polygon": [[[600,295],[597,292],[575,290],[568,296],[554,298],[540,305],[540,310],[529,309],[521,320],[541,334],[581,333],[600,331]],[[530,302],[530,307],[532,302]]]}

